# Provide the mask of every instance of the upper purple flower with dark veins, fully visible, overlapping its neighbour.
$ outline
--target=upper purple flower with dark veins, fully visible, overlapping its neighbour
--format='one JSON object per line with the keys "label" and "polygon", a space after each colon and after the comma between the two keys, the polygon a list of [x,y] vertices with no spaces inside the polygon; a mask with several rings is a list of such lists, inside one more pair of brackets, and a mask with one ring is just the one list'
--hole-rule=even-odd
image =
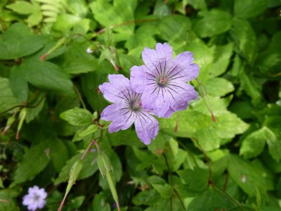
{"label": "upper purple flower with dark veins, fully visible, overlapping its neighbour", "polygon": [[191,52],[173,59],[171,46],[158,43],[155,50],[145,48],[142,57],[145,65],[131,68],[131,86],[143,94],[143,108],[153,109],[158,117],[169,117],[177,110],[185,110],[197,98],[194,87],[186,84],[199,73]]}

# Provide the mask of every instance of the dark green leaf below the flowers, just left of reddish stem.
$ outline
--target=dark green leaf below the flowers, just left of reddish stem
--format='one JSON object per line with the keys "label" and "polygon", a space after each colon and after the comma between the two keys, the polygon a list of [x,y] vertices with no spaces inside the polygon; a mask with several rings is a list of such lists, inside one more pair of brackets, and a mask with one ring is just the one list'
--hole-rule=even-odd
{"label": "dark green leaf below the flowers, just left of reddish stem", "polygon": [[179,170],[177,173],[191,191],[201,192],[208,186],[209,172],[207,169],[195,167],[193,170]]}

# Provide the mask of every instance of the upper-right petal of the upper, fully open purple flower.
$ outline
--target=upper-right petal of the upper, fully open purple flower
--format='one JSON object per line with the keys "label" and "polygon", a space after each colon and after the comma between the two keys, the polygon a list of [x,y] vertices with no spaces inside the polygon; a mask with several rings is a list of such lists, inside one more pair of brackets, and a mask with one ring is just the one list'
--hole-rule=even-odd
{"label": "upper-right petal of the upper, fully open purple flower", "polygon": [[182,82],[190,82],[199,74],[199,67],[193,62],[193,55],[191,52],[185,51],[178,54],[174,60],[174,64],[168,71],[166,77],[169,80],[178,79]]}

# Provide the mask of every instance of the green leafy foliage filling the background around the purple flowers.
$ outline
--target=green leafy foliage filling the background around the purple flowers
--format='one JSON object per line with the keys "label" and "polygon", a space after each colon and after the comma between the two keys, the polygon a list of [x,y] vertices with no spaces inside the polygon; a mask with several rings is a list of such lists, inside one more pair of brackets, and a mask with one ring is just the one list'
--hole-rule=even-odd
{"label": "green leafy foliage filling the background around the purple flowers", "polygon": [[[280,6],[1,1],[0,210],[34,185],[42,210],[280,210]],[[98,86],[157,42],[194,54],[200,96],[145,146],[107,132]]]}

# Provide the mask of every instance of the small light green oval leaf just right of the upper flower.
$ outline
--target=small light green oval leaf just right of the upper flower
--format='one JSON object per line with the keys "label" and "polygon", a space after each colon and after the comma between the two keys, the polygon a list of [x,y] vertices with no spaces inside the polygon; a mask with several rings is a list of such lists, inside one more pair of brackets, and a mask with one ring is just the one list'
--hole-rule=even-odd
{"label": "small light green oval leaf just right of the upper flower", "polygon": [[[231,91],[234,91],[233,84],[222,77],[211,78],[204,85],[207,93],[214,96],[225,96]],[[218,87],[222,89],[218,89]]]}

